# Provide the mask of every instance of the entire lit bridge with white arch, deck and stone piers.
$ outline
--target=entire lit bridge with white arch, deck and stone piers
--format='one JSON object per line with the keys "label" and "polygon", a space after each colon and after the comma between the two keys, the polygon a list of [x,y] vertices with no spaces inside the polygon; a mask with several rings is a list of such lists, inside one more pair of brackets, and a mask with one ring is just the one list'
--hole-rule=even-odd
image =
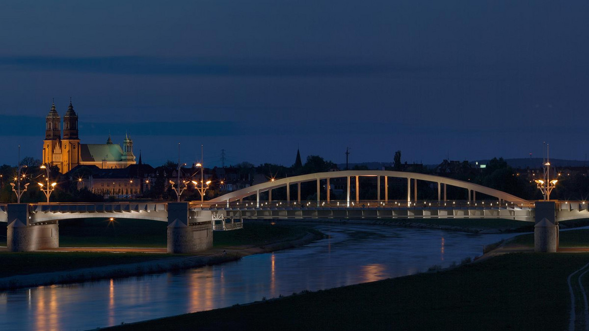
{"label": "entire lit bridge with white arch, deck and stone piers", "polygon": [[[376,179],[376,199],[360,200],[360,177]],[[406,198],[389,199],[389,178],[407,180]],[[346,200],[332,200],[330,179],[345,179]],[[437,199],[418,201],[417,180],[433,183]],[[301,200],[301,183],[316,182],[316,200]],[[350,183],[354,184],[354,188]],[[412,185],[413,184],[413,185]],[[290,199],[296,185],[297,198]],[[446,188],[468,192],[468,200],[448,199]],[[272,200],[272,190],[285,188],[286,200]],[[443,189],[443,190],[442,190]],[[260,193],[267,192],[267,200]],[[325,192],[325,194],[322,194]],[[350,199],[351,193],[355,199]],[[477,200],[476,193],[485,200]],[[413,193],[413,194],[412,194]],[[255,200],[248,200],[255,196]],[[321,197],[323,200],[321,199]],[[413,200],[411,200],[413,196]],[[480,195],[479,195],[480,196]],[[491,199],[488,199],[491,197]],[[493,200],[494,198],[494,200]],[[542,212],[537,204],[541,203]],[[241,228],[243,219],[514,219],[536,222],[557,238],[559,220],[588,218],[585,202],[530,202],[508,193],[470,182],[421,173],[384,170],[349,170],[312,173],[272,180],[211,199],[207,202],[30,203],[0,205],[0,222],[8,226],[11,250],[36,250],[59,246],[58,221],[80,218],[131,218],[168,223],[168,252],[196,252],[210,248],[213,230]],[[544,232],[542,232],[544,233]],[[552,237],[551,237],[552,238]],[[548,241],[552,240],[550,238]],[[557,240],[557,239],[555,239]],[[537,240],[538,241],[538,240]],[[544,240],[546,241],[546,240]]]}

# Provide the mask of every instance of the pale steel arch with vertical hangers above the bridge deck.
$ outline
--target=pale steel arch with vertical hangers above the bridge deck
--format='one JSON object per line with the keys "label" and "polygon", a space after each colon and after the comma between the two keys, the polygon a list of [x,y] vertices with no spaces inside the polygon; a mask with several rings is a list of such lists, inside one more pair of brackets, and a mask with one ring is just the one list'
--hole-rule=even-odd
{"label": "pale steel arch with vertical hangers above the bridge deck", "polygon": [[[350,178],[352,178],[352,177],[355,177],[355,178],[377,177],[379,184],[380,184],[380,178],[383,177],[383,178],[385,178],[385,188],[387,187],[389,177],[391,177],[391,178],[406,178],[407,179],[407,187],[408,187],[407,200],[409,202],[412,201],[411,200],[411,180],[413,179],[413,180],[425,180],[427,182],[438,183],[438,200],[442,199],[441,198],[441,184],[443,184],[444,185],[444,200],[445,200],[446,186],[449,185],[449,186],[456,186],[458,188],[467,189],[469,200],[471,197],[471,192],[472,192],[473,197],[476,195],[475,192],[479,192],[479,193],[483,193],[485,195],[497,198],[500,201],[529,203],[528,200],[519,198],[519,197],[517,197],[515,195],[511,195],[509,193],[502,192],[501,190],[487,188],[486,186],[478,185],[475,183],[464,182],[463,180],[446,178],[446,177],[435,176],[435,175],[426,175],[425,173],[401,172],[401,171],[389,171],[389,170],[344,170],[344,171],[333,171],[333,172],[309,173],[307,175],[281,178],[281,179],[276,179],[276,180],[272,180],[269,182],[253,185],[253,186],[250,186],[249,188],[244,188],[244,189],[236,190],[234,192],[227,193],[226,195],[219,196],[219,197],[211,199],[207,202],[212,202],[212,203],[227,202],[227,203],[229,203],[230,201],[243,199],[243,198],[246,198],[247,196],[251,196],[251,195],[257,195],[257,200],[259,202],[260,192],[265,192],[268,190],[270,190],[270,192],[272,192],[273,189],[281,188],[283,186],[286,186],[287,200],[292,200],[292,199],[290,199],[290,185],[293,185],[293,184],[300,185],[300,183],[303,183],[303,182],[316,181],[317,182],[317,193],[319,193],[320,192],[319,181],[322,179],[326,179],[329,183],[329,179],[333,179],[333,178],[346,178],[347,179],[348,185],[346,187],[346,190],[347,190],[347,196],[348,196],[348,202],[349,202],[350,201]],[[381,196],[380,195],[380,185],[377,185],[377,189],[378,189],[378,193],[377,193],[378,198],[380,200],[380,196]],[[356,180],[356,200],[358,200],[358,191],[359,191],[359,183],[358,183],[358,180]],[[297,192],[300,192],[300,190],[298,190]],[[416,196],[416,195],[417,194],[416,194],[416,189],[415,189],[414,196]],[[319,196],[319,194],[317,194],[317,201],[320,200],[319,198],[320,198],[320,196]],[[329,199],[329,195],[327,196],[327,199]],[[300,197],[297,200],[300,200]],[[388,190],[385,190],[385,199],[384,200],[388,200]],[[416,200],[416,199],[414,199],[414,200]],[[473,198],[473,200],[475,200],[475,199]]]}

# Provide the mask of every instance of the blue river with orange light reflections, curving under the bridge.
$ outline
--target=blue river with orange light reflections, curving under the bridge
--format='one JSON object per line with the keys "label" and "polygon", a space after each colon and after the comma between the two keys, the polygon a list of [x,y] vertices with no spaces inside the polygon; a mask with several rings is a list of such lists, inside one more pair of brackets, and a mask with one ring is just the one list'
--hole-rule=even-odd
{"label": "blue river with orange light reflections, curving under the bridge", "polygon": [[181,272],[0,292],[0,330],[87,330],[423,272],[511,235],[316,225],[329,238]]}

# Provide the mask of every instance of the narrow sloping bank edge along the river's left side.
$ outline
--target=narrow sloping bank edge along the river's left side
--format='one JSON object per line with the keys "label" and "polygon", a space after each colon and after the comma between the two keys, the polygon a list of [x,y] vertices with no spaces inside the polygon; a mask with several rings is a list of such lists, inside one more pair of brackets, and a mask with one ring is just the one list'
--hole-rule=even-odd
{"label": "narrow sloping bank edge along the river's left side", "polygon": [[[286,239],[260,246],[213,248],[200,252],[198,255],[178,256],[178,258],[154,259],[137,263],[124,263],[120,265],[99,266],[68,271],[2,277],[0,278],[0,291],[4,292],[6,290],[15,290],[24,287],[82,283],[111,278],[120,279],[175,270],[200,268],[201,266],[206,265],[217,265],[220,263],[236,261],[248,255],[294,248],[322,238],[322,235],[307,232],[302,238]],[[226,250],[227,254],[224,255],[223,250]]]}

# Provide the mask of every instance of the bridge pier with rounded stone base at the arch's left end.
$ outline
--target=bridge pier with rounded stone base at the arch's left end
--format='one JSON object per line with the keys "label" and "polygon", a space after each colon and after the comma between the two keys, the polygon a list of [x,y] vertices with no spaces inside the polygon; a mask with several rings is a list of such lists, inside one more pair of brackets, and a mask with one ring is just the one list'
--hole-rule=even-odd
{"label": "bridge pier with rounded stone base at the arch's left end", "polygon": [[212,219],[190,219],[188,202],[168,202],[168,253],[194,253],[213,248]]}

